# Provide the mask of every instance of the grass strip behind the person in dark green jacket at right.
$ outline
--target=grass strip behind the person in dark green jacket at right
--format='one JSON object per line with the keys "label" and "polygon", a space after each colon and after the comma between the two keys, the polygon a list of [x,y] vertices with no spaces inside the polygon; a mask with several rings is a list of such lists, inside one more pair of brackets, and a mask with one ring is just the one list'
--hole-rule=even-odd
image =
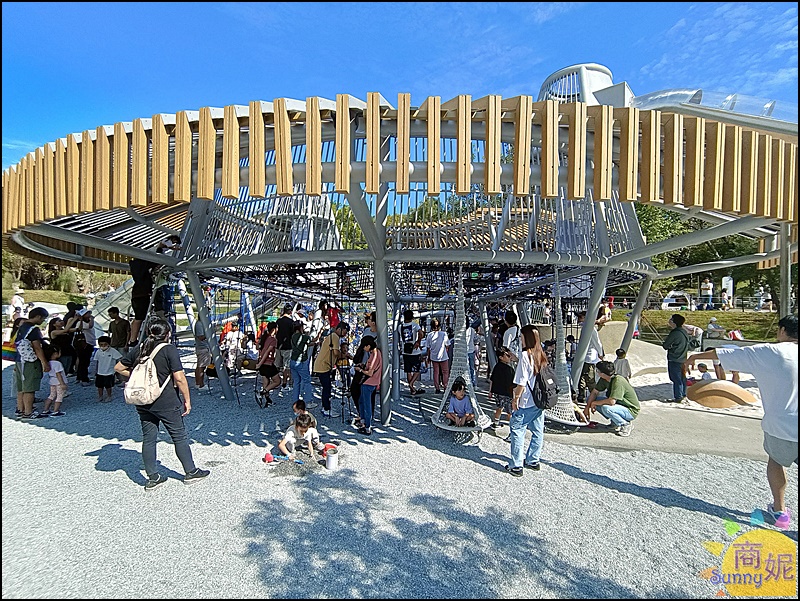
{"label": "grass strip behind the person in dark green jacket at right", "polygon": [[[614,309],[612,315],[616,321],[628,321],[624,309]],[[686,318],[686,323],[705,329],[712,317],[717,318],[717,323],[726,330],[741,330],[747,340],[763,340],[775,342],[778,335],[777,313],[759,313],[755,311],[653,311],[642,312],[639,330],[642,335],[656,333],[663,340],[669,334],[667,325],[670,316],[680,313]]]}

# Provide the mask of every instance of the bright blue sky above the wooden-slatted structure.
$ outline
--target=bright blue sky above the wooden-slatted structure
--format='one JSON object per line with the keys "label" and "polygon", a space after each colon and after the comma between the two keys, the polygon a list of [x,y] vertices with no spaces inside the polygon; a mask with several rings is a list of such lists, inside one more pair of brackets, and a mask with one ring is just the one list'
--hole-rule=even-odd
{"label": "bright blue sky above the wooden-slatted structure", "polygon": [[605,65],[634,94],[703,88],[797,103],[797,4],[16,3],[3,10],[3,169],[73,132],[307,96],[412,105],[536,96]]}

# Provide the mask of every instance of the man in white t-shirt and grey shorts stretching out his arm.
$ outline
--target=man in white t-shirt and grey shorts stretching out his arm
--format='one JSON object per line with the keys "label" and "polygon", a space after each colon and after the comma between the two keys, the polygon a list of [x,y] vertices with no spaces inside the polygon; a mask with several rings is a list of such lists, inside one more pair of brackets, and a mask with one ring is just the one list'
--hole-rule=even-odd
{"label": "man in white t-shirt and grey shorts stretching out his arm", "polygon": [[725,369],[755,376],[764,407],[764,450],[769,456],[767,481],[772,503],[767,512],[776,526],[787,528],[792,518],[784,503],[785,468],[797,463],[797,316],[787,315],[778,322],[777,344],[710,349],[692,355],[686,365],[691,368],[704,359],[716,359]]}

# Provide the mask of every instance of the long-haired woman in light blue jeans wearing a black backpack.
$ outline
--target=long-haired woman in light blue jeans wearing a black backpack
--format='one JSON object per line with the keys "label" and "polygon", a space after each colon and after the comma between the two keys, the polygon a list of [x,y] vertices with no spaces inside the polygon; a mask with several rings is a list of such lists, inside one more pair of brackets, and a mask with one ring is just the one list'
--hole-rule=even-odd
{"label": "long-haired woman in light blue jeans wearing a black backpack", "polygon": [[[532,389],[535,379],[543,365],[547,365],[547,356],[542,350],[542,341],[536,326],[522,327],[522,352],[520,353],[517,371],[514,374],[514,392],[511,398],[511,460],[505,470],[512,476],[521,477],[523,465],[532,470],[539,470],[539,458],[542,454],[544,438],[544,412],[533,402]],[[531,442],[527,452],[523,451],[525,430],[530,428]]]}

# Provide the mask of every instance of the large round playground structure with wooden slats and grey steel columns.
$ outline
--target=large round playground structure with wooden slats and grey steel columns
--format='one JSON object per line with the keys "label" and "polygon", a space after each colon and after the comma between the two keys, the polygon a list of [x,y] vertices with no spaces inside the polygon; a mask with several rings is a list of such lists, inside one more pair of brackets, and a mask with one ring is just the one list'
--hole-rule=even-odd
{"label": "large round playground structure with wooden slats and grey steel columns", "polygon": [[[209,332],[209,307],[197,302],[209,281],[374,304],[390,358],[380,387],[388,423],[400,394],[390,329],[404,307],[455,304],[460,287],[487,329],[487,303],[513,305],[524,325],[533,298],[578,299],[591,315],[608,288],[640,282],[623,348],[657,278],[778,259],[788,299],[797,109],[701,90],[637,97],[584,64],[550,76],[535,102],[460,95],[412,106],[405,93],[396,104],[340,94],[101,125],[26,156],[3,173],[2,193],[8,248],[115,272],[157,257],[184,274]],[[710,227],[647,244],[634,202]],[[170,234],[183,248],[157,256]],[[732,234],[770,250],[664,272],[650,262]]]}

